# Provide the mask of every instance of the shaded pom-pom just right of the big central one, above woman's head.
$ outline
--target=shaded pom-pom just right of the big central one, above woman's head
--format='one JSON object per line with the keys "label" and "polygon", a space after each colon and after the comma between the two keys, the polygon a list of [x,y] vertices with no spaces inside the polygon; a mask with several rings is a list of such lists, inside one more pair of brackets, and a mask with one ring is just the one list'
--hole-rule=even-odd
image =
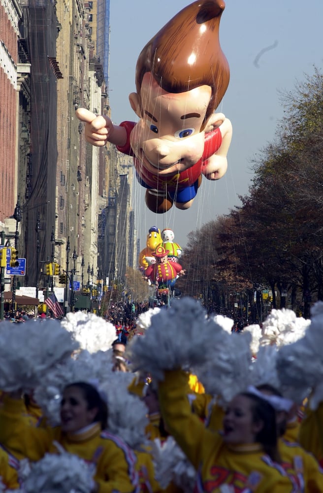
{"label": "shaded pom-pom just right of the big central one, above woman's head", "polygon": [[228,334],[219,331],[210,338],[209,350],[212,357],[194,367],[198,380],[208,394],[221,397],[226,404],[250,383],[251,334],[249,332]]}

